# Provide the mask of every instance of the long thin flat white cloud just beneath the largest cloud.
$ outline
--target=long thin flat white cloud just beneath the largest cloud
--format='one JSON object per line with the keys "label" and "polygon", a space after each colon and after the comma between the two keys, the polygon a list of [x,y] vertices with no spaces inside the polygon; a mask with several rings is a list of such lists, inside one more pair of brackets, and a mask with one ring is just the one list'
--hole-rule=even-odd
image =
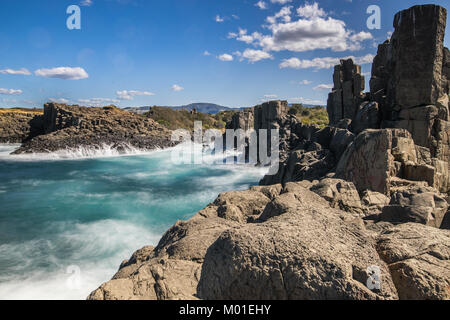
{"label": "long thin flat white cloud just beneath the largest cloud", "polygon": [[341,59],[353,59],[353,61],[356,64],[369,64],[373,62],[373,58],[375,56],[372,54],[367,54],[362,57],[344,57],[344,58],[331,58],[331,57],[325,57],[325,58],[315,58],[312,60],[300,60],[298,58],[290,58],[290,59],[284,59],[280,63],[280,69],[283,68],[291,68],[291,69],[309,69],[309,68],[315,68],[318,69],[330,69],[334,67],[335,65],[339,64]]}

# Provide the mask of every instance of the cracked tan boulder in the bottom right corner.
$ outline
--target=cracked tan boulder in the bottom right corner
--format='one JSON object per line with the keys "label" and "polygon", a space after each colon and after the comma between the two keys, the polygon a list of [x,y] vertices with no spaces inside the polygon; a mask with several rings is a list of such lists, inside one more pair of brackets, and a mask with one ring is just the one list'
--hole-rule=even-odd
{"label": "cracked tan boulder in the bottom right corner", "polygon": [[450,231],[407,223],[383,232],[377,242],[400,299],[450,299]]}

